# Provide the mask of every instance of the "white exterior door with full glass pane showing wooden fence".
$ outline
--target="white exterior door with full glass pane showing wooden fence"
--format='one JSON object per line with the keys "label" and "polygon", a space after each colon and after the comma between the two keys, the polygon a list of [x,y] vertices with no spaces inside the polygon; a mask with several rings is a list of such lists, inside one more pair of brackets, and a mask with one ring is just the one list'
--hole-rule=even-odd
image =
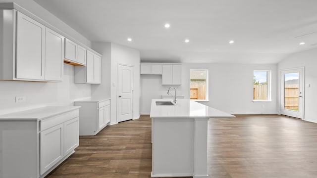
{"label": "white exterior door with full glass pane showing wooden fence", "polygon": [[304,68],[281,71],[281,114],[304,118]]}

